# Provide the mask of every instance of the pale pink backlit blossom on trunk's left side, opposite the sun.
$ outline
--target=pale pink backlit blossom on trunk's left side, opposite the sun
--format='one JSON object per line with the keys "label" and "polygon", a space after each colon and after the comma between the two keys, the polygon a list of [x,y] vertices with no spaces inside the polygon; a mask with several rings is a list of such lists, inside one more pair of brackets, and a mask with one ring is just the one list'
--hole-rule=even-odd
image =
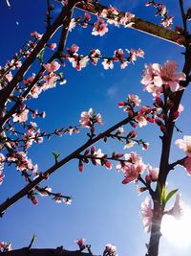
{"label": "pale pink backlit blossom on trunk's left side, opposite the sun", "polygon": [[149,233],[151,231],[153,210],[151,205],[151,198],[147,197],[140,205],[140,214],[144,226],[144,231]]}

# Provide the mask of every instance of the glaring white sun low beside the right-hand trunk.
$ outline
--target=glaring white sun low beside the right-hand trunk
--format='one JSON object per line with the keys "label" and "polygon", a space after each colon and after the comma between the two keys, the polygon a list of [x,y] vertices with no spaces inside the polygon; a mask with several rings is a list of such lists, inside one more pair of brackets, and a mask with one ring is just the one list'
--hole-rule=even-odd
{"label": "glaring white sun low beside the right-hand trunk", "polygon": [[161,233],[175,246],[191,245],[191,210],[185,210],[179,220],[173,216],[164,215],[161,221]]}

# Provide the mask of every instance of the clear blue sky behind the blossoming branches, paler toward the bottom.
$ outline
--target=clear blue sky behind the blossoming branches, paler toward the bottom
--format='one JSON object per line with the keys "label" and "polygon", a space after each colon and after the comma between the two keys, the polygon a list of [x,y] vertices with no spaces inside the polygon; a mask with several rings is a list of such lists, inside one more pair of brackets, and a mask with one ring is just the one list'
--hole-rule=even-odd
{"label": "clear blue sky behind the blossoming branches, paler toward the bottom", "polygon": [[[174,15],[174,24],[181,25],[179,1],[165,1],[169,14]],[[101,4],[116,6],[121,11],[135,13],[138,17],[159,23],[159,17],[154,17],[155,10],[145,8],[143,0],[129,1],[100,1]],[[190,0],[186,1],[189,7]],[[55,4],[54,16],[60,11],[60,5]],[[6,1],[0,1],[0,65],[4,65],[11,56],[20,49],[23,42],[30,38],[33,31],[45,31],[46,1],[33,0],[11,1],[11,9]],[[74,16],[79,11],[74,12]],[[52,40],[56,41],[56,35]],[[163,64],[167,59],[179,62],[181,70],[183,63],[183,48],[168,43],[157,37],[145,35],[131,29],[117,29],[109,26],[109,33],[98,37],[91,35],[91,28],[86,30],[77,27],[69,34],[67,47],[73,43],[79,46],[80,54],[88,54],[91,49],[99,49],[104,56],[113,56],[116,49],[138,49],[145,52],[145,58],[138,59],[135,65],[129,65],[121,70],[115,64],[114,70],[104,70],[102,65],[97,67],[88,65],[81,72],[77,72],[71,63],[63,68],[67,78],[66,85],[57,85],[56,88],[42,93],[37,100],[29,105],[39,110],[46,110],[46,119],[36,120],[41,130],[52,131],[54,128],[76,125],[80,113],[93,107],[101,113],[104,126],[97,131],[103,131],[124,119],[126,115],[117,107],[117,102],[126,99],[130,93],[138,94],[142,104],[152,105],[152,96],[143,92],[140,84],[141,72],[145,63],[159,62]],[[35,72],[31,70],[30,74]],[[178,121],[182,135],[175,132],[171,160],[175,161],[184,154],[174,141],[178,137],[191,134],[190,126],[190,88],[182,99],[185,110]],[[126,128],[130,131],[132,128]],[[74,151],[86,140],[86,129],[73,136],[65,135],[53,138],[40,145],[33,145],[29,157],[33,163],[38,163],[41,171],[46,171],[53,165],[52,151],[60,152],[61,157]],[[148,151],[141,151],[137,146],[132,151],[138,151],[144,163],[154,167],[159,166],[160,140],[159,129],[154,126],[138,129],[138,137],[148,141]],[[98,143],[96,149],[101,148],[106,153],[129,152],[123,150],[123,145],[115,141],[107,144]],[[25,181],[11,166],[5,170],[5,182],[0,187],[0,200],[4,201],[18,190],[23,188]],[[72,196],[72,205],[57,204],[51,198],[40,198],[36,206],[31,200],[22,198],[14,204],[1,221],[0,241],[11,242],[13,248],[20,248],[30,244],[32,235],[37,240],[33,247],[56,247],[64,245],[67,249],[76,249],[74,240],[86,238],[87,244],[92,244],[93,253],[101,254],[105,244],[116,244],[120,256],[145,255],[145,243],[149,237],[145,235],[139,215],[141,201],[147,196],[138,196],[134,183],[122,185],[122,175],[115,170],[106,170],[99,166],[86,165],[80,174],[77,170],[77,161],[72,161],[53,174],[49,184],[53,191]],[[185,205],[191,205],[191,177],[183,168],[177,168],[168,180],[169,190],[179,188]],[[172,200],[173,202],[173,200]],[[191,244],[180,247],[179,243],[172,244],[161,238],[159,255],[162,256],[190,256]]]}

